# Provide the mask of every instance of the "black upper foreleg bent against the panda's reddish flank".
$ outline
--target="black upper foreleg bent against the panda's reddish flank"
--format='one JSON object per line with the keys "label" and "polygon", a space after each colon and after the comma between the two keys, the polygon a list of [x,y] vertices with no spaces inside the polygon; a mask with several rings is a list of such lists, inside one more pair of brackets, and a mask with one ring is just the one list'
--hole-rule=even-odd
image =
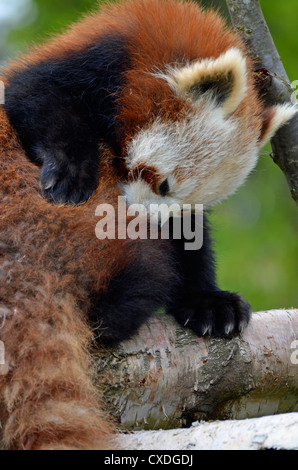
{"label": "black upper foreleg bent against the panda's reddish flank", "polygon": [[9,79],[5,110],[28,157],[42,165],[48,199],[88,199],[98,184],[99,142],[118,152],[117,93],[127,62],[122,37],[106,36],[83,52],[28,65]]}

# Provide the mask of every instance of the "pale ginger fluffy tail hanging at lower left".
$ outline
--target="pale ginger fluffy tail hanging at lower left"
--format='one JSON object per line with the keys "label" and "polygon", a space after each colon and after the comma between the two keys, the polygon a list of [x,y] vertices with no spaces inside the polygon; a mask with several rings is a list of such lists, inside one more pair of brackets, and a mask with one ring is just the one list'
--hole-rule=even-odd
{"label": "pale ginger fluffy tail hanging at lower left", "polygon": [[91,332],[70,296],[46,285],[15,306],[0,305],[0,366],[6,449],[110,449],[113,425],[100,409],[87,346]]}

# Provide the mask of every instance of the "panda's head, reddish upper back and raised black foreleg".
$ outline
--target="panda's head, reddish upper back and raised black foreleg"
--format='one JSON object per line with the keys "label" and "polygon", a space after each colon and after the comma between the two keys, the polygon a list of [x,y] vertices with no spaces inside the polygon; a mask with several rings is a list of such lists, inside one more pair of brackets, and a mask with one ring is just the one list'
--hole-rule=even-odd
{"label": "panda's head, reddish upper back and raised black foreleg", "polygon": [[133,180],[129,202],[161,196],[208,207],[244,182],[295,112],[264,106],[253,65],[213,11],[121,2],[11,64],[5,109],[50,200],[90,197],[104,140],[121,178]]}

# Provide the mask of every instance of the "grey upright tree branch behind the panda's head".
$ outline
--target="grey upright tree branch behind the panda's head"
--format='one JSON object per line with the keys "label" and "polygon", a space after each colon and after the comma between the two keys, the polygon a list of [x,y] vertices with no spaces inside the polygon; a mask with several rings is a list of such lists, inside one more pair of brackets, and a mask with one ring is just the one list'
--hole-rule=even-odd
{"label": "grey upright tree branch behind the panda's head", "polygon": [[[246,41],[259,69],[267,69],[264,88],[268,104],[291,102],[293,90],[263,16],[259,0],[226,0],[234,28]],[[272,158],[284,172],[298,204],[298,115],[271,140]]]}

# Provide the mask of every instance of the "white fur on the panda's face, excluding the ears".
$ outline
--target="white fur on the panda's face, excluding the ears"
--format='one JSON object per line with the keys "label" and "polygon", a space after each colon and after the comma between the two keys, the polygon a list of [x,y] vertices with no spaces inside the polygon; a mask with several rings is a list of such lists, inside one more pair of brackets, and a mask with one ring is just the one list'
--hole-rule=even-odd
{"label": "white fur on the panda's face, excluding the ears", "polygon": [[155,194],[141,177],[123,186],[124,195],[129,204],[146,206],[213,205],[233,193],[254,168],[257,140],[255,129],[227,117],[212,99],[202,99],[199,110],[192,110],[184,120],[157,119],[128,146],[128,169],[140,164],[155,168],[160,183],[168,178],[167,196]]}

